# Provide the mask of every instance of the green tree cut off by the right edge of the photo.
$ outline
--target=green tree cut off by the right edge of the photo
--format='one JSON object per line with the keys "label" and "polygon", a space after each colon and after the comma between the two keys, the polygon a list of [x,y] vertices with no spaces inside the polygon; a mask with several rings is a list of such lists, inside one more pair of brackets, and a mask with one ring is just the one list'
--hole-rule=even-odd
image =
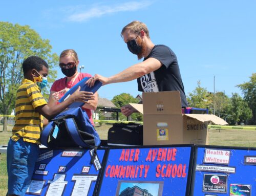
{"label": "green tree cut off by the right edge of the photo", "polygon": [[256,73],[252,73],[249,82],[237,85],[244,94],[244,99],[252,110],[251,123],[256,124]]}

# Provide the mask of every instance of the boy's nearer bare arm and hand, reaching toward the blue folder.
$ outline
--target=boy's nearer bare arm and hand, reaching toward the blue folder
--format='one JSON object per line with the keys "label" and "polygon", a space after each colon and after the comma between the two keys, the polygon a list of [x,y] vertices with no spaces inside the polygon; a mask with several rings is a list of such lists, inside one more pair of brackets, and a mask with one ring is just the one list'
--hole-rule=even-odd
{"label": "boy's nearer bare arm and hand, reaching toward the blue folder", "polygon": [[58,105],[49,106],[48,104],[44,104],[36,107],[35,109],[47,119],[51,119],[63,110],[65,110],[65,108],[68,107],[71,103],[74,103],[76,101],[90,104],[89,100],[93,100],[93,93],[79,90],[80,86],[67,100],[61,102]]}

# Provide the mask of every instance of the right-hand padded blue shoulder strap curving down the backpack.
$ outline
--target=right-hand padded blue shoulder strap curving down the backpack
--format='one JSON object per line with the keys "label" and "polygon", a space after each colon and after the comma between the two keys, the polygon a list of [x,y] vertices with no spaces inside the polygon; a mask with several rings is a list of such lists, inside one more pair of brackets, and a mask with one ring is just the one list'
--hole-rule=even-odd
{"label": "right-hand padded blue shoulder strap curving down the backpack", "polygon": [[[65,123],[66,123],[67,129],[70,133],[70,136],[79,146],[81,146],[81,147],[93,147],[94,146],[94,139],[93,140],[83,140],[82,139],[80,133],[84,133],[84,132],[81,132],[78,129],[74,118],[67,118]],[[88,134],[88,133],[84,133],[84,134]],[[90,135],[94,138],[93,135],[91,135],[91,134],[88,134],[88,135]]]}

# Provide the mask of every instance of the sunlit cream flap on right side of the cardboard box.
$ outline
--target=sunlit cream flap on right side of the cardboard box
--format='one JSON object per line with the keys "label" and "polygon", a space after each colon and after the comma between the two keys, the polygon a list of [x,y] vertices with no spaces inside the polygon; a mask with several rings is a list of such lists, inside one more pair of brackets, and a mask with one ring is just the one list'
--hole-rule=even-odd
{"label": "sunlit cream flap on right side of the cardboard box", "polygon": [[210,121],[214,124],[219,125],[226,125],[228,124],[225,120],[219,118],[218,116],[215,116],[213,114],[184,114],[185,116],[188,116],[190,118],[197,119],[201,122],[207,122]]}

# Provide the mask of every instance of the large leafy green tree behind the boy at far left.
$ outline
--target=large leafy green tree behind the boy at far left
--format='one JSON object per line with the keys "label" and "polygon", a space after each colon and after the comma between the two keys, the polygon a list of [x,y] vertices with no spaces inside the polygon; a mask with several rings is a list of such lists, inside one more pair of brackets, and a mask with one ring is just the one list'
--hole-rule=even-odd
{"label": "large leafy green tree behind the boy at far left", "polygon": [[[57,54],[52,54],[51,49],[50,41],[42,39],[29,26],[0,22],[0,114],[9,115],[15,106],[16,91],[24,77],[22,62],[25,58],[34,55],[48,62],[49,88],[56,78],[57,71],[52,68],[58,61]],[[42,93],[46,94],[46,90]],[[5,117],[3,130],[6,129]]]}

